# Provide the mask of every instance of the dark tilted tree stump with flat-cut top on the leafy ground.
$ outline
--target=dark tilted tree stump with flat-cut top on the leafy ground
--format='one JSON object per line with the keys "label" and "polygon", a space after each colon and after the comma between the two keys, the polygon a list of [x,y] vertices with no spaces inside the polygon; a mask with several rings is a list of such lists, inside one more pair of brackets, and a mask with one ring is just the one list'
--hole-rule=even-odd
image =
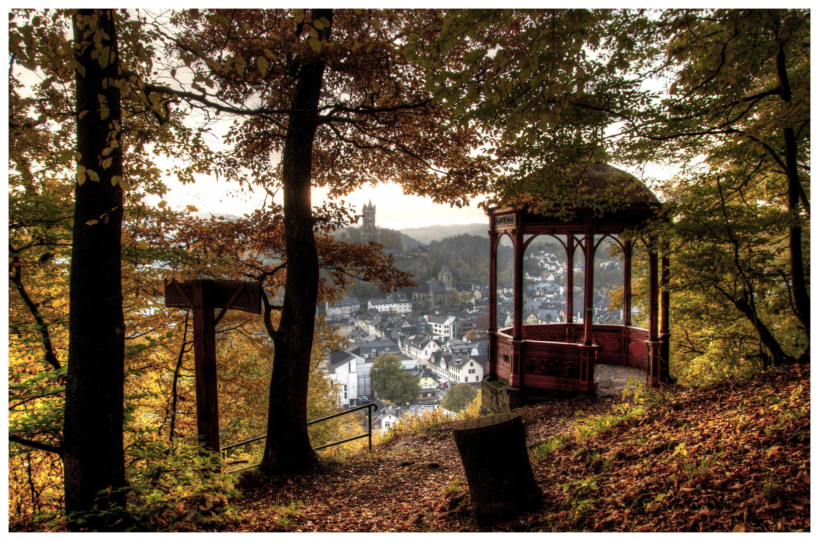
{"label": "dark tilted tree stump with flat-cut top on the leafy ground", "polygon": [[475,521],[481,528],[540,507],[526,449],[523,421],[515,413],[478,417],[455,426]]}

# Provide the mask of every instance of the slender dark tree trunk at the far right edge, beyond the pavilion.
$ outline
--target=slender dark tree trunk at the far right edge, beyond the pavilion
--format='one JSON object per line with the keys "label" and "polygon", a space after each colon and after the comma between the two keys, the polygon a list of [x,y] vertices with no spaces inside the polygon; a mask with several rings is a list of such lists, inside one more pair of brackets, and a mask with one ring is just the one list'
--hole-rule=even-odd
{"label": "slender dark tree trunk at the far right edge, beyond the pavilion", "polygon": [[[776,74],[779,78],[781,98],[790,102],[790,81],[788,80],[788,70],[785,65],[785,44],[780,43],[779,52],[776,54]],[[785,143],[785,175],[788,178],[788,210],[794,214],[794,219],[799,219],[799,192],[801,183],[799,181],[799,169],[797,165],[798,147],[794,137],[794,128],[791,126],[783,130],[782,138]],[[805,326],[805,334],[811,336],[811,298],[808,295],[808,286],[805,283],[805,271],[802,258],[802,228],[797,224],[791,226],[788,231],[788,241],[790,250],[790,286],[794,291],[794,306],[796,315]]]}

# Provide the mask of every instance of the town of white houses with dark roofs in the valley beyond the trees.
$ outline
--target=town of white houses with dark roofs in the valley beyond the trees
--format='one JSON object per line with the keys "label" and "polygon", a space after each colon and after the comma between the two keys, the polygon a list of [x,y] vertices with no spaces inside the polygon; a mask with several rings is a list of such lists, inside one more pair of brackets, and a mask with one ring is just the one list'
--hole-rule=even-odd
{"label": "town of white houses with dark roofs in the valley beyond the trees", "polygon": [[[361,239],[378,240],[375,206],[372,201],[362,208],[364,227]],[[414,246],[409,250],[385,249],[396,261],[426,258],[428,250]],[[549,250],[533,250],[527,255],[523,274],[524,324],[562,323],[567,321],[566,258]],[[620,270],[618,261],[604,261],[601,269]],[[583,272],[583,264],[574,264],[574,273]],[[373,426],[386,431],[396,426],[403,415],[441,408],[446,393],[454,385],[467,383],[480,389],[486,372],[486,330],[489,325],[489,285],[487,283],[455,284],[446,260],[437,279],[414,277],[417,286],[388,293],[381,298],[359,299],[342,295],[335,303],[324,303],[317,311],[324,316],[337,335],[349,341],[344,349],[328,352],[319,366],[337,385],[340,405],[352,408],[375,403],[378,410]],[[577,279],[575,283],[582,283]],[[595,278],[595,322],[619,324],[622,310],[609,310],[609,287]],[[610,286],[610,285],[609,285]],[[616,284],[614,285],[616,286]],[[600,294],[598,289],[600,288]],[[576,290],[579,289],[576,287]],[[497,321],[495,328],[512,325],[513,285],[497,286]],[[575,298],[581,298],[576,291]],[[583,322],[576,305],[573,322]],[[383,354],[396,356],[405,371],[419,378],[420,392],[415,403],[388,405],[373,390],[370,369]],[[448,412],[454,416],[457,412]]]}

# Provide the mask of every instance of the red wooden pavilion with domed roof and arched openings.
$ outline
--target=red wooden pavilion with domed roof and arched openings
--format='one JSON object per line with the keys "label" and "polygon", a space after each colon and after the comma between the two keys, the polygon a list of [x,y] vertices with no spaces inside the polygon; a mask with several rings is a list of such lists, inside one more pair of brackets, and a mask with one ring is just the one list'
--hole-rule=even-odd
{"label": "red wooden pavilion with domed roof and arched openings", "polygon": [[[482,384],[484,408],[494,413],[508,411],[527,399],[550,394],[593,393],[595,362],[637,367],[646,372],[648,385],[658,385],[668,373],[668,260],[662,257],[662,276],[658,270],[658,249],[649,241],[650,309],[649,328],[631,325],[631,255],[634,242],[613,235],[645,228],[653,219],[663,219],[660,201],[643,183],[610,165],[594,164],[574,169],[570,184],[577,192],[595,197],[617,196],[616,210],[603,213],[590,207],[573,208],[571,217],[532,214],[527,209],[491,208],[489,215],[490,269],[488,354],[486,378]],[[497,255],[500,238],[506,236],[514,246],[514,318],[511,327],[497,328]],[[548,324],[523,322],[523,255],[539,236],[550,236],[566,249],[566,321]],[[559,237],[563,238],[559,238]],[[598,237],[595,241],[595,236]],[[622,247],[625,259],[623,277],[622,325],[593,322],[593,283],[595,250],[604,238]],[[582,323],[573,321],[574,252],[579,248],[585,259],[585,287]],[[499,411],[500,410],[500,411]]]}

